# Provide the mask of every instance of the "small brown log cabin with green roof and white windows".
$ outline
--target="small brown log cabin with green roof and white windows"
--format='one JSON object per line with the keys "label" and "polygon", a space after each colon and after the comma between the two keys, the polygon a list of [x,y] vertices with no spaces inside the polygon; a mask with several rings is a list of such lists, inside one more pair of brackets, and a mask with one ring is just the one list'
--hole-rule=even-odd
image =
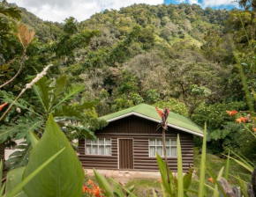
{"label": "small brown log cabin with green roof and white windows", "polygon": [[[79,159],[84,168],[103,170],[158,171],[156,152],[163,157],[161,117],[154,106],[140,104],[103,116],[108,126],[97,130],[97,141],[79,141]],[[177,171],[177,134],[180,136],[183,167],[193,165],[193,135],[203,131],[191,120],[169,113],[166,151],[171,171]]]}

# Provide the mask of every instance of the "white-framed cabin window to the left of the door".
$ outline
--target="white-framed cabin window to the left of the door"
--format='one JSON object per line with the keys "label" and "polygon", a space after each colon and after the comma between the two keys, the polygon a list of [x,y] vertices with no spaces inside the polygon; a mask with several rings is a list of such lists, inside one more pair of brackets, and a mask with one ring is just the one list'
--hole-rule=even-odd
{"label": "white-framed cabin window to the left of the door", "polygon": [[111,139],[98,138],[96,141],[86,139],[86,154],[87,155],[111,155]]}

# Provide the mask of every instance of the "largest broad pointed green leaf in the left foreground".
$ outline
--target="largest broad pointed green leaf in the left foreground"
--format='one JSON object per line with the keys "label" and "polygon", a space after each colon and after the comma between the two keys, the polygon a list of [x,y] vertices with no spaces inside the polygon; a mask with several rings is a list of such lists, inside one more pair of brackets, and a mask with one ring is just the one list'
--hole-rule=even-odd
{"label": "largest broad pointed green leaf in the left foreground", "polygon": [[34,188],[36,188],[37,197],[80,197],[82,195],[84,171],[70,142],[57,126],[52,115],[49,116],[41,140],[31,151],[23,179],[63,148],[65,148],[64,152],[24,187],[27,196],[34,196]]}

